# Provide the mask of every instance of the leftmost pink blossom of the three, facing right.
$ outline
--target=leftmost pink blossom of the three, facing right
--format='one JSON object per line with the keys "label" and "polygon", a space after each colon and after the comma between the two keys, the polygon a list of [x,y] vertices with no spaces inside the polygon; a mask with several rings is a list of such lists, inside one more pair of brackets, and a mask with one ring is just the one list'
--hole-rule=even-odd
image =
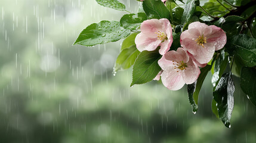
{"label": "leftmost pink blossom of the three, facing right", "polygon": [[161,46],[159,53],[164,55],[172,44],[172,27],[166,18],[145,20],[141,23],[141,33],[135,38],[138,51],[154,51]]}

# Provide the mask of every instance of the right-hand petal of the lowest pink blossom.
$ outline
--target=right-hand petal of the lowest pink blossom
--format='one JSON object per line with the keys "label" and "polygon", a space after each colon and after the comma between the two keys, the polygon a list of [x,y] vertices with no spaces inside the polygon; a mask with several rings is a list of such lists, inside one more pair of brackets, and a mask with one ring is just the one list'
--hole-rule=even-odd
{"label": "right-hand petal of the lowest pink blossom", "polygon": [[196,65],[192,58],[190,58],[189,62],[187,62],[186,70],[181,71],[181,75],[186,84],[194,83],[198,79],[200,73],[201,71],[198,65]]}

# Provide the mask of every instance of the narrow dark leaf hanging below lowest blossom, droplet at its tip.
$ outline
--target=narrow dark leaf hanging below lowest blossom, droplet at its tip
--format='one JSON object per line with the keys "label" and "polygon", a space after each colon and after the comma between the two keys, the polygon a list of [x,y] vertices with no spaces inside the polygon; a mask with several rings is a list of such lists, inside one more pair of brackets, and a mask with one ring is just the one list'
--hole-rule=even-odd
{"label": "narrow dark leaf hanging below lowest blossom, droplet at its tip", "polygon": [[196,91],[196,82],[192,83],[191,85],[187,85],[187,94],[189,95],[189,103],[192,106],[192,112],[196,114],[198,111],[198,104],[196,104],[193,94]]}

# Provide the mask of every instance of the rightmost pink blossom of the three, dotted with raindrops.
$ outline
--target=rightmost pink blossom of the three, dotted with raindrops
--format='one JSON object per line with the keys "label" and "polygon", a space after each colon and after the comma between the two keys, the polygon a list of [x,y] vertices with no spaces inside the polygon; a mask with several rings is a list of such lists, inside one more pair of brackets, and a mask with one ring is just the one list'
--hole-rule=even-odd
{"label": "rightmost pink blossom of the three, dotted with raindrops", "polygon": [[226,33],[219,27],[200,22],[189,24],[189,29],[181,33],[181,46],[203,67],[211,61],[214,52],[227,42]]}

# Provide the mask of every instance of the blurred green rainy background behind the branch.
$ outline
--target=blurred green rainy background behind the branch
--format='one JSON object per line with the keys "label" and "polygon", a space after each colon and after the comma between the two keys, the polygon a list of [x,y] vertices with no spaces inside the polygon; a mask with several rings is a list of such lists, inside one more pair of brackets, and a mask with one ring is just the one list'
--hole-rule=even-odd
{"label": "blurred green rainy background behind the branch", "polygon": [[[133,13],[141,5],[120,1]],[[1,0],[0,9],[0,142],[256,142],[238,77],[228,129],[211,111],[211,74],[193,114],[186,86],[130,88],[132,69],[113,76],[122,41],[72,46],[89,24],[125,12],[94,0]]]}

